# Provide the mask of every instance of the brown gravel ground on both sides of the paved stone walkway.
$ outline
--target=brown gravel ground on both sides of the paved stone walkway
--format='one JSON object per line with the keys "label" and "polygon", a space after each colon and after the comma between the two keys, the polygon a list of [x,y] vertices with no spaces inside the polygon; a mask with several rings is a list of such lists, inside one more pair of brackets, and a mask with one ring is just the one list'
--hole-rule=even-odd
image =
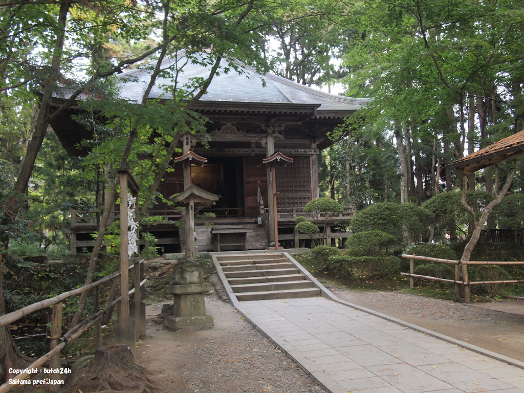
{"label": "brown gravel ground on both sides of the paved stone walkway", "polygon": [[[162,303],[148,305],[149,338],[137,349],[157,391],[180,393],[328,393],[225,301],[216,275],[206,298],[214,327],[171,332],[161,325]],[[524,361],[524,316],[396,292],[330,287],[340,299]]]}

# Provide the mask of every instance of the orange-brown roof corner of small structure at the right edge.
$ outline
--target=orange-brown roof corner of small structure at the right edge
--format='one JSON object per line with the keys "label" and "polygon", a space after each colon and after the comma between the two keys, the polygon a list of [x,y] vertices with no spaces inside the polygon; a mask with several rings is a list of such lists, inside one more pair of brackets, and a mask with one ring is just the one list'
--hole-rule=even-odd
{"label": "orange-brown roof corner of small structure at the right edge", "polygon": [[524,155],[524,130],[500,139],[493,145],[475,151],[469,156],[459,158],[449,164],[450,167],[473,173],[497,162]]}

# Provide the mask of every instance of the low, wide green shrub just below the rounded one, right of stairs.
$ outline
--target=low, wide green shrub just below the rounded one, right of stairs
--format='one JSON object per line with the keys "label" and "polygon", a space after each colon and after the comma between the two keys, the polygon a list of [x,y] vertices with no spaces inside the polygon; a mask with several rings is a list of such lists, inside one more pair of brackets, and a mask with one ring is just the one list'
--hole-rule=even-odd
{"label": "low, wide green shrub just below the rounded one, right of stairs", "polygon": [[400,258],[395,256],[346,256],[346,264],[357,278],[391,278],[400,271]]}

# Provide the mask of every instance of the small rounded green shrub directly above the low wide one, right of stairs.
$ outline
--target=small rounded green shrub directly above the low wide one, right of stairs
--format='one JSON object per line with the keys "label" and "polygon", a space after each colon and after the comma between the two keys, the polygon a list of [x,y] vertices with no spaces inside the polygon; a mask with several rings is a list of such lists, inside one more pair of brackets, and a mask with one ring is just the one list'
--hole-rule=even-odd
{"label": "small rounded green shrub directly above the low wide one, right of stairs", "polygon": [[353,256],[388,254],[398,243],[397,238],[382,231],[357,232],[346,241],[348,253]]}

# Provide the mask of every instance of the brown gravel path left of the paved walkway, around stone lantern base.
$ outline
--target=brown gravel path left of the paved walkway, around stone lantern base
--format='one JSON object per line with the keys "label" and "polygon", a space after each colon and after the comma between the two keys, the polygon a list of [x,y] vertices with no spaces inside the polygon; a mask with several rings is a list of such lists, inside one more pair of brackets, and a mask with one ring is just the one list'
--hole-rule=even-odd
{"label": "brown gravel path left of the paved walkway, around stone lantern base", "polygon": [[161,308],[147,306],[149,337],[136,349],[159,391],[326,393],[216,294],[206,298],[213,328],[169,331],[156,323]]}

